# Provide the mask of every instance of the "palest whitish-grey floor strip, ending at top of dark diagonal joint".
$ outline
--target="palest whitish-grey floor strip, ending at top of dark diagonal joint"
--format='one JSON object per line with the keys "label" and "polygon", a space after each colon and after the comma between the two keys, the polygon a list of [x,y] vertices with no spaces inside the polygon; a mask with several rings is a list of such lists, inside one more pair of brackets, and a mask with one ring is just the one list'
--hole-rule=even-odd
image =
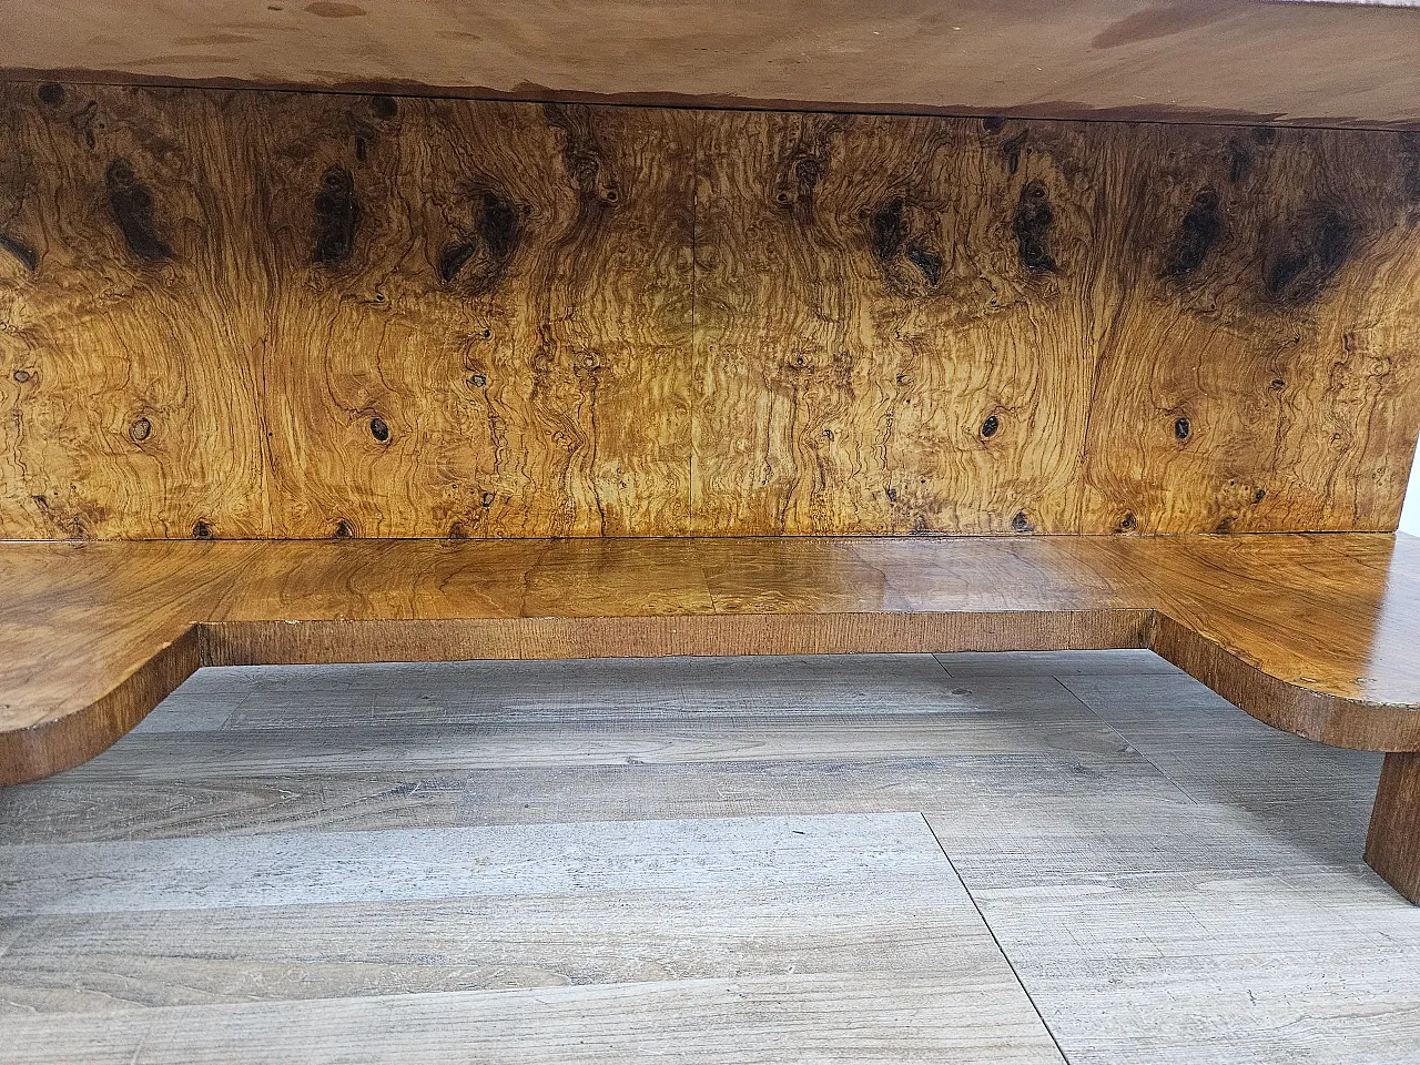
{"label": "palest whitish-grey floor strip, ending at top of dark diagonal joint", "polygon": [[[197,836],[0,848],[0,916],[941,879],[913,814]],[[930,842],[930,835],[926,836]],[[825,862],[825,855],[832,855]]]}

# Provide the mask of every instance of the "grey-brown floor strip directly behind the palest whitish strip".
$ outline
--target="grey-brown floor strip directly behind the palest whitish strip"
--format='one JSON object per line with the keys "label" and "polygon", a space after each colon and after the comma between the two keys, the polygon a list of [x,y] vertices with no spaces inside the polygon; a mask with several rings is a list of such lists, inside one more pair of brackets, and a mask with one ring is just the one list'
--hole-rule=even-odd
{"label": "grey-brown floor strip directly behind the palest whitish strip", "polygon": [[176,775],[176,768],[172,777],[145,780],[61,774],[0,791],[0,843],[914,812],[941,809],[961,797],[1010,809],[1014,802],[1058,797],[1181,795],[1136,753],[1068,748],[515,768],[426,768],[390,760],[369,772],[321,772],[320,761],[320,751],[311,751],[310,761],[290,770],[250,775]]}

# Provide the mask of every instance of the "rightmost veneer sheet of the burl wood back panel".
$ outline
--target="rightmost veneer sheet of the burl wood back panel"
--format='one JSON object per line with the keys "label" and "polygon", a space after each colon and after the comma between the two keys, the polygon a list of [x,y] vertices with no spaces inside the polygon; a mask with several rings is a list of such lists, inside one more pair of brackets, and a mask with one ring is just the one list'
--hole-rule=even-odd
{"label": "rightmost veneer sheet of the burl wood back panel", "polygon": [[1394,528],[1420,425],[1411,142],[1122,132],[1079,530]]}

